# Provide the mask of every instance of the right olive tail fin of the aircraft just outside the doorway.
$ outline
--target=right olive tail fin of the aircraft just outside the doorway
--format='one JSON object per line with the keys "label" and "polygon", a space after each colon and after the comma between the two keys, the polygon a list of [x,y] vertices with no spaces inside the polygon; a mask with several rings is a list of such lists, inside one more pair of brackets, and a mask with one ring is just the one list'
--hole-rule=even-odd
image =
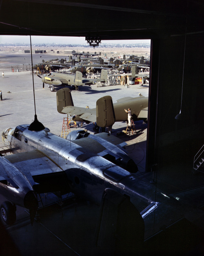
{"label": "right olive tail fin of the aircraft just outside the doorway", "polygon": [[115,122],[115,112],[111,96],[104,96],[96,102],[96,123],[100,127],[109,127]]}

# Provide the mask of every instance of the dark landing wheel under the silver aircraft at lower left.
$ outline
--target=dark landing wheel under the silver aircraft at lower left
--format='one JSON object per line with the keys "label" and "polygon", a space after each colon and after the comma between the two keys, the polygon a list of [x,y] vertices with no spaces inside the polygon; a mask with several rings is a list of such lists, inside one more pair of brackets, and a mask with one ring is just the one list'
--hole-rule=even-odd
{"label": "dark landing wheel under the silver aircraft at lower left", "polygon": [[5,223],[12,225],[16,221],[16,209],[9,201],[5,201],[0,207],[1,216]]}

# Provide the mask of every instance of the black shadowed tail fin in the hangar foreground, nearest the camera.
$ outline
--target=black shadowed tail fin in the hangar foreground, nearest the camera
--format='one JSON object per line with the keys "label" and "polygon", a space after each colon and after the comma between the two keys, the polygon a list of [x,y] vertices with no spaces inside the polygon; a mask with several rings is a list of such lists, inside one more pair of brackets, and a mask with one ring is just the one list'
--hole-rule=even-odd
{"label": "black shadowed tail fin in the hangar foreground, nearest the camera", "polygon": [[114,189],[105,189],[95,232],[96,255],[142,252],[144,220],[137,208]]}

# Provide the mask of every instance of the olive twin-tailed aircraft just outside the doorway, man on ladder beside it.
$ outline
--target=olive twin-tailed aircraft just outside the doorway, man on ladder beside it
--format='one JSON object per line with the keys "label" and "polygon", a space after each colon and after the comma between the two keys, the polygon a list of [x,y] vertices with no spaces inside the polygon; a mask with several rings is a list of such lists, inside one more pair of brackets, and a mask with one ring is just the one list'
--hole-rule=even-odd
{"label": "olive twin-tailed aircraft just outside the doorway, man on ladder beside it", "polygon": [[[111,96],[107,96],[110,97]],[[69,88],[63,88],[60,89],[57,92],[57,109],[60,114],[69,114],[73,116],[73,120],[76,122],[96,122],[98,126],[104,127],[103,122],[104,120],[113,120],[110,122],[109,125],[106,123],[105,127],[109,127],[114,124],[114,122],[122,122],[127,121],[127,113],[124,111],[124,109],[131,108],[131,114],[134,121],[137,120],[144,120],[146,121],[148,118],[148,97],[144,97],[141,93],[139,94],[139,97],[124,97],[119,100],[117,100],[116,103],[113,103],[113,110],[114,115],[111,114],[112,108],[110,98],[105,99],[104,97],[100,98],[96,102],[96,108],[94,109],[88,109],[85,107],[76,107],[73,104],[73,99],[71,96],[71,92]],[[106,109],[106,106],[109,106],[109,108],[106,109],[106,111],[102,112],[105,113],[106,116],[100,120],[100,116],[102,116],[102,113],[98,114],[98,102],[100,100],[104,103],[104,108]],[[108,122],[108,121],[107,121]]]}

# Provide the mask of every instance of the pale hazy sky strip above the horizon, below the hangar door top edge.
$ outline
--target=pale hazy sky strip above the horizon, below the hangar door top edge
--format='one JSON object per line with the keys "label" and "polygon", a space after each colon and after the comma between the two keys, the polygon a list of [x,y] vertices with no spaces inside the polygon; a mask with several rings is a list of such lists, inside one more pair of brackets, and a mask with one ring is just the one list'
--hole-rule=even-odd
{"label": "pale hazy sky strip above the horizon, below the hangar door top edge", "polygon": [[[0,43],[30,43],[30,36],[0,36]],[[83,44],[86,43],[85,37],[64,37],[64,36],[31,36],[33,43],[56,43],[56,44]],[[137,42],[150,42],[150,40],[104,40],[102,43],[137,43]]]}

